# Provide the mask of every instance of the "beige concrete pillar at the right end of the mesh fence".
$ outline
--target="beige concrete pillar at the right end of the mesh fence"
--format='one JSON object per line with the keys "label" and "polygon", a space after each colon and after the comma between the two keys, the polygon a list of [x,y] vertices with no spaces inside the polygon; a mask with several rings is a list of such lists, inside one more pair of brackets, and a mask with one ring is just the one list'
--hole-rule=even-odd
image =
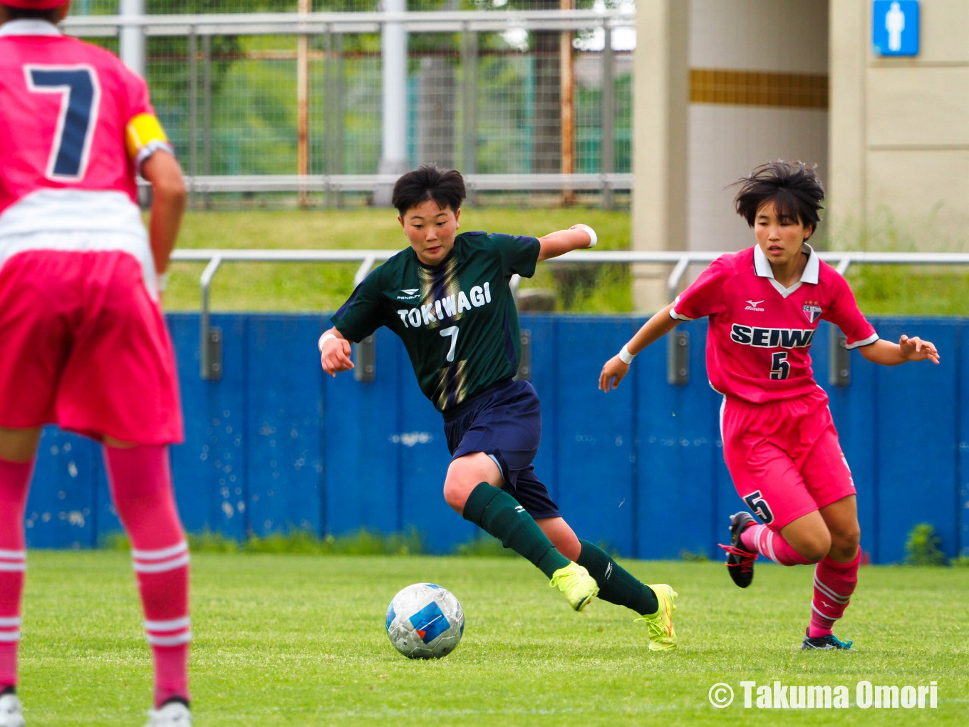
{"label": "beige concrete pillar at the right end of the mesh fence", "polygon": [[[637,4],[634,58],[633,249],[686,249],[689,2]],[[669,266],[633,269],[637,310],[669,302]]]}

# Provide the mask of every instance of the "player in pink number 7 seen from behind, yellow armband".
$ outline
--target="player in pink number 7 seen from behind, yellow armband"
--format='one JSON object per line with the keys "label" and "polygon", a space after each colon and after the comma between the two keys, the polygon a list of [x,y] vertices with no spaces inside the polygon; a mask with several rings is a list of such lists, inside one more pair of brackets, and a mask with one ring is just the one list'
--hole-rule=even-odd
{"label": "player in pink number 7 seen from behind, yellow armband", "polygon": [[159,304],[185,184],[145,82],[58,31],[69,5],[0,0],[0,727],[24,724],[23,516],[51,423],[104,445],[154,655],[150,724],[187,726],[189,556],[168,453],[182,422]]}

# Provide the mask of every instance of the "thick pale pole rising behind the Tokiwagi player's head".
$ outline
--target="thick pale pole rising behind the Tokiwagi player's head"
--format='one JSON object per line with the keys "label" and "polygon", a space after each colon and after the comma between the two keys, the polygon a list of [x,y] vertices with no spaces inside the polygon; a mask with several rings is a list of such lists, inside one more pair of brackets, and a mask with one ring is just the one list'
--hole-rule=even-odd
{"label": "thick pale pole rising behind the Tokiwagi player's head", "polygon": [[[403,13],[407,0],[384,0],[386,13]],[[378,174],[404,174],[407,161],[407,30],[403,23],[384,23],[381,34],[383,62],[384,116],[383,147]],[[374,205],[391,204],[391,185],[380,185],[374,194]]]}

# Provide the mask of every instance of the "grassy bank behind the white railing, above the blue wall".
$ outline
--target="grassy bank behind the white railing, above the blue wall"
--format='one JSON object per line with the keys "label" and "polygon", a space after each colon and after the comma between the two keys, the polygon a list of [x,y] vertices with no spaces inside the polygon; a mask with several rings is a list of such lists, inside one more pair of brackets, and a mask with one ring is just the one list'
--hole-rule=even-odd
{"label": "grassy bank behind the white railing, above the blue wall", "polygon": [[[468,207],[462,210],[462,230],[541,236],[577,222],[592,225],[599,234],[597,250],[630,246],[630,213],[586,208],[509,209]],[[883,236],[884,237],[884,236]],[[248,210],[189,212],[185,216],[181,248],[297,248],[402,249],[407,240],[391,209]],[[751,236],[753,244],[753,236]],[[824,242],[822,242],[824,244]],[[837,249],[911,250],[891,237],[829,243]],[[353,289],[357,264],[227,263],[212,285],[215,310],[335,310]],[[175,264],[165,306],[169,310],[198,310],[199,276],[203,265]],[[522,289],[555,291],[558,309],[583,313],[624,313],[633,310],[628,268],[601,266],[574,271],[540,265]],[[579,276],[580,279],[575,278]],[[964,269],[925,270],[902,266],[855,266],[848,279],[861,309],[886,315],[965,315],[969,274]]]}

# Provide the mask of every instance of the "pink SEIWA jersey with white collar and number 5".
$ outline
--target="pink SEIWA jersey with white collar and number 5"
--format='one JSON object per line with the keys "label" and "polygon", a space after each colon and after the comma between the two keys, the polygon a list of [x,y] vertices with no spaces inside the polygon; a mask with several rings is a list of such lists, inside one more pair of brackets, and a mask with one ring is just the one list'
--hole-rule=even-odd
{"label": "pink SEIWA jersey with white collar and number 5", "polygon": [[754,403],[818,390],[808,349],[822,319],[840,328],[848,348],[878,339],[848,283],[810,245],[800,280],[784,288],[760,247],[717,258],[675,303],[681,321],[707,316],[706,370],[723,395]]}

